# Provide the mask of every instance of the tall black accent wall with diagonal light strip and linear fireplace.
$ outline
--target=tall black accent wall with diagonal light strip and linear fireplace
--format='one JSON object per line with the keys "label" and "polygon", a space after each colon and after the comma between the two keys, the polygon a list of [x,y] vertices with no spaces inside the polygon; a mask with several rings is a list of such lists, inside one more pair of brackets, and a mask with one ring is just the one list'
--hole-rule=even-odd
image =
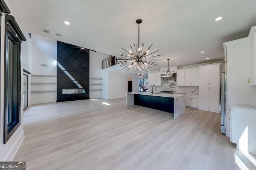
{"label": "tall black accent wall with diagonal light strip and linear fireplace", "polygon": [[90,53],[88,49],[80,50],[74,47],[77,46],[57,41],[57,61],[86,89],[86,93],[62,94],[62,89],[78,88],[78,86],[57,66],[57,102],[89,99]]}

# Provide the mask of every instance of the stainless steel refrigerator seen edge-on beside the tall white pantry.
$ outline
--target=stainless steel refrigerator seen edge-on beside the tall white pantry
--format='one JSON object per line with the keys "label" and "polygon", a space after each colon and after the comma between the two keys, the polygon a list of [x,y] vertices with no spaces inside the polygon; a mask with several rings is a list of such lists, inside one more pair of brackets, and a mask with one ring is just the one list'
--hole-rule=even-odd
{"label": "stainless steel refrigerator seen edge-on beside the tall white pantry", "polygon": [[[226,70],[226,66],[225,66]],[[224,70],[224,71],[225,71]],[[221,104],[221,133],[226,134],[226,98],[227,92],[227,74],[226,71],[222,72],[222,81],[221,81],[221,94],[220,94],[220,104]]]}

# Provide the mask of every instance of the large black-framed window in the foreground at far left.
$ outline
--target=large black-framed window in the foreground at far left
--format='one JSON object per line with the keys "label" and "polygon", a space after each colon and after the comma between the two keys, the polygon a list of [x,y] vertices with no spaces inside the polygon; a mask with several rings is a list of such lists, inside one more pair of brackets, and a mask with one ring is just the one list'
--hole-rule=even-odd
{"label": "large black-framed window in the foreground at far left", "polygon": [[[4,36],[4,144],[20,126],[21,116],[21,42],[26,41],[13,16],[5,15]],[[12,45],[11,63],[9,63],[8,45]],[[9,64],[11,70],[9,70]],[[8,71],[11,74],[8,74]],[[9,79],[9,76],[12,77]],[[8,80],[11,82],[8,83]],[[11,90],[8,90],[8,87]],[[9,101],[8,98],[11,98]],[[10,107],[9,107],[10,106]],[[9,109],[8,109],[9,107]],[[11,109],[10,109],[11,108]],[[11,110],[12,121],[8,123],[8,112]]]}

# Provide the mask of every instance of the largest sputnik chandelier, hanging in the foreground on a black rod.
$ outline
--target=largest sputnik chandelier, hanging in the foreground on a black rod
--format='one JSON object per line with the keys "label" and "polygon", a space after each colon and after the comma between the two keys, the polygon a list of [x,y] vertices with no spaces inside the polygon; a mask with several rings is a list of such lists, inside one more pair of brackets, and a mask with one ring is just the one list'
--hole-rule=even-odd
{"label": "largest sputnik chandelier, hanging in the foreground on a black rod", "polygon": [[124,68],[128,67],[128,70],[134,70],[134,72],[144,72],[149,71],[152,66],[158,66],[158,64],[152,60],[160,60],[160,59],[153,59],[152,57],[160,56],[158,55],[158,48],[151,50],[151,47],[153,44],[149,45],[147,48],[145,43],[142,43],[140,46],[140,23],[142,23],[142,20],[138,19],[136,20],[136,23],[138,23],[138,44],[135,43],[130,45],[129,47],[126,45],[126,49],[122,48],[124,51],[120,51],[121,54],[118,57],[121,61],[121,67],[124,66]]}

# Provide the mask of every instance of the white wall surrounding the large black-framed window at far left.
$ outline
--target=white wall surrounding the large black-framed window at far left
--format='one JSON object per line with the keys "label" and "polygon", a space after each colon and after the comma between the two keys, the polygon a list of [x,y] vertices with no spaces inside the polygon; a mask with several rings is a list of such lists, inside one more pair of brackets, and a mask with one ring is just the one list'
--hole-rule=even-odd
{"label": "white wall surrounding the large black-framed window at far left", "polygon": [[[8,0],[5,0],[7,6],[9,7],[12,16],[16,19],[18,25],[20,26],[20,29],[22,29],[21,24],[17,20],[15,14],[12,11],[12,8],[8,2]],[[7,141],[6,144],[4,144],[3,136],[4,136],[4,16],[5,14],[2,13],[2,20],[1,20],[1,57],[0,57],[0,161],[11,161],[13,157],[15,156],[18,148],[20,147],[23,139],[24,139],[24,130],[23,130],[23,107],[20,108],[21,113],[21,120],[20,120],[20,126],[18,129],[14,132],[14,134],[10,137],[10,139]],[[26,41],[22,42],[23,46],[26,44]],[[23,70],[23,64],[21,64],[21,70]],[[21,71],[21,76],[23,75],[23,72]],[[21,83],[21,94],[23,93],[23,83]],[[21,104],[23,103],[23,99],[21,98]]]}

